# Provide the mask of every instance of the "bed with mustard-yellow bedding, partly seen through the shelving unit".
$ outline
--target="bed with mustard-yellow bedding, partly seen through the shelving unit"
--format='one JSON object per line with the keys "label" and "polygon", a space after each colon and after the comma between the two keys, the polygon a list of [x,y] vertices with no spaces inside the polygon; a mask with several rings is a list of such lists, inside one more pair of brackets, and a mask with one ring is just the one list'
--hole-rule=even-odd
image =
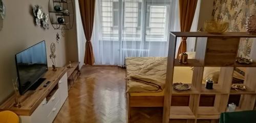
{"label": "bed with mustard-yellow bedding, partly seen through the shelving unit", "polygon": [[[193,58],[194,54],[195,52],[188,53],[188,58]],[[126,57],[125,63],[127,111],[129,117],[131,107],[162,107],[167,57]],[[218,81],[219,71],[220,68],[218,67],[205,68],[203,83],[206,78]],[[192,67],[174,68],[174,83],[191,83],[192,76]],[[234,78],[243,80],[243,76],[236,72],[234,72]],[[144,80],[153,81],[153,83],[145,83]],[[155,83],[157,84],[155,85]],[[179,98],[172,98],[172,104],[175,104],[173,102],[176,102],[176,104],[184,102],[184,105],[186,105],[186,102],[183,101],[186,100],[184,97],[179,95]]]}

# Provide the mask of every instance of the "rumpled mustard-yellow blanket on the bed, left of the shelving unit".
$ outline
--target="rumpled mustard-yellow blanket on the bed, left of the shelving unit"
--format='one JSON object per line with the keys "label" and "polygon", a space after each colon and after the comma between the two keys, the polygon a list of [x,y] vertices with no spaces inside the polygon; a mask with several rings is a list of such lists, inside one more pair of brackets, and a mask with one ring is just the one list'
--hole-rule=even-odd
{"label": "rumpled mustard-yellow blanket on the bed, left of the shelving unit", "polygon": [[[126,61],[128,62],[131,60],[133,60],[133,57],[130,57],[129,60],[126,59]],[[138,66],[140,66],[140,64],[142,63],[145,66],[141,66],[139,70],[133,71],[132,73],[127,75],[126,79],[131,80],[130,82],[137,81],[137,83],[133,82],[133,84],[137,84],[134,86],[138,86],[138,87],[143,86],[145,91],[148,91],[148,92],[162,91],[164,88],[165,77],[166,77],[167,57],[154,57],[152,58],[152,60],[146,60],[146,63],[143,59],[141,61],[138,59],[136,60],[138,61]],[[129,63],[126,63],[126,64],[129,65]],[[135,69],[135,67],[130,69]],[[144,86],[144,85],[147,85],[147,86]],[[129,83],[128,83],[128,86],[129,86]]]}

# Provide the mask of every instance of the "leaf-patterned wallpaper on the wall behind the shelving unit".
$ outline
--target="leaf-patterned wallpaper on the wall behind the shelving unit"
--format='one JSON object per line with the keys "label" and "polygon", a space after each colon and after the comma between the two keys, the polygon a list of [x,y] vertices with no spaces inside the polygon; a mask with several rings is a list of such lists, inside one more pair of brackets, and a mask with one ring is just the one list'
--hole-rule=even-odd
{"label": "leaf-patterned wallpaper on the wall behind the shelving unit", "polygon": [[[228,32],[246,32],[246,18],[255,11],[255,0],[215,0],[212,17],[217,21],[228,21]],[[249,58],[251,43],[251,39],[240,41],[239,57]]]}

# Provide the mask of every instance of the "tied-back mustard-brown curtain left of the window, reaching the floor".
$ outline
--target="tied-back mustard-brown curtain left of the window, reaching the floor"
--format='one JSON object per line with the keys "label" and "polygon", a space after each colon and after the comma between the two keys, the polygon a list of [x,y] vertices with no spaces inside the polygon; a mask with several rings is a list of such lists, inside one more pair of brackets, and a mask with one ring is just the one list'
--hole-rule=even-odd
{"label": "tied-back mustard-brown curtain left of the window, reaching the floor", "polygon": [[83,25],[84,35],[86,35],[86,54],[84,64],[94,64],[93,47],[91,37],[93,32],[95,0],[79,0],[80,13]]}

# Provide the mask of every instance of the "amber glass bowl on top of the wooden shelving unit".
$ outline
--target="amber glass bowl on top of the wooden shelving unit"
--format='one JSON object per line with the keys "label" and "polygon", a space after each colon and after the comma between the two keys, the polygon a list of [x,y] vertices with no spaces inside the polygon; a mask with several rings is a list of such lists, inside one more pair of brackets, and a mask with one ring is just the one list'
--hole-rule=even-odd
{"label": "amber glass bowl on top of the wooden shelving unit", "polygon": [[222,34],[226,32],[228,22],[224,21],[205,21],[204,30],[211,34]]}

